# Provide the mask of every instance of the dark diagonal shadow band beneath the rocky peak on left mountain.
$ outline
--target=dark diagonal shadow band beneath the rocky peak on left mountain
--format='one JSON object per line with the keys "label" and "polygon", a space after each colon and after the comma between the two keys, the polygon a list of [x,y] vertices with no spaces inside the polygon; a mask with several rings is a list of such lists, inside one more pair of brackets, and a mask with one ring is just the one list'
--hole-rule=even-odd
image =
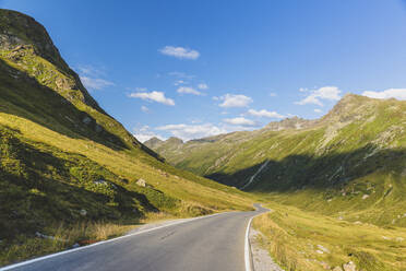
{"label": "dark diagonal shadow band beneath the rocky peak on left mountain", "polygon": [[114,150],[128,149],[87,113],[1,59],[0,82],[0,113],[29,119],[70,138],[86,138]]}

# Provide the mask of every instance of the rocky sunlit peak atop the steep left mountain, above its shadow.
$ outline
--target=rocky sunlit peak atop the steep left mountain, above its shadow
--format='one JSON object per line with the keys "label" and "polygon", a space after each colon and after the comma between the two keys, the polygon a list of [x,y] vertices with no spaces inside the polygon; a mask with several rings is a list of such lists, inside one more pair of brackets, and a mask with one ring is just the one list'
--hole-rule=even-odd
{"label": "rocky sunlit peak atop the steep left mountain, above its shadow", "polygon": [[[80,99],[106,114],[62,59],[46,28],[33,17],[0,9],[0,56],[71,103]],[[47,63],[38,61],[39,58]]]}

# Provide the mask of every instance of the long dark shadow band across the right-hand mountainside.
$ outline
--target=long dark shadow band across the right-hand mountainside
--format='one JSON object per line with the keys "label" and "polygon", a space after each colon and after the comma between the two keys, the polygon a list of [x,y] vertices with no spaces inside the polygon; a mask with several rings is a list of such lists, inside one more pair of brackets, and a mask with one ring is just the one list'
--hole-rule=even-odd
{"label": "long dark shadow band across the right-hand mountainside", "polygon": [[[271,160],[244,190],[287,192],[303,188],[341,189],[343,185],[374,172],[384,170],[385,173],[401,174],[406,168],[406,150],[377,150],[377,145],[367,144],[351,152],[318,157],[289,155],[282,161]],[[215,173],[205,177],[241,188],[265,161],[232,174]]]}

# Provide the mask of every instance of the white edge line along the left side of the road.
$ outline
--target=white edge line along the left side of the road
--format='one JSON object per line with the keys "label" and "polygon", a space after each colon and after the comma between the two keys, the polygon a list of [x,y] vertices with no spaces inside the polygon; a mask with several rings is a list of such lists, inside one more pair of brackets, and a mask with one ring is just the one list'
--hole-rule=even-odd
{"label": "white edge line along the left side of the road", "polygon": [[98,246],[98,245],[103,245],[103,244],[106,244],[106,243],[111,243],[111,241],[116,241],[116,240],[119,240],[119,239],[128,238],[128,237],[131,237],[131,236],[134,236],[134,235],[145,234],[145,233],[153,232],[155,229],[159,229],[159,228],[164,228],[164,227],[168,227],[168,226],[172,226],[172,225],[178,225],[178,224],[183,224],[183,223],[188,223],[188,222],[192,222],[192,221],[196,221],[196,220],[201,220],[201,219],[206,219],[206,217],[212,217],[212,216],[216,216],[216,215],[219,215],[219,214],[226,214],[226,213],[230,213],[230,212],[215,213],[215,214],[210,214],[210,215],[189,219],[187,221],[174,222],[174,223],[166,224],[166,225],[163,225],[163,226],[157,226],[157,227],[140,231],[140,232],[136,232],[136,233],[133,233],[133,234],[123,235],[123,236],[120,236],[120,237],[117,237],[117,238],[112,238],[112,239],[108,239],[108,240],[101,240],[101,241],[98,241],[98,243],[95,243],[95,244],[92,244],[92,245],[88,245],[88,246],[72,248],[72,249],[63,250],[63,251],[60,251],[60,252],[57,252],[57,254],[51,254],[51,255],[47,255],[47,256],[43,256],[43,257],[39,257],[39,258],[32,259],[32,260],[14,263],[14,264],[11,264],[11,266],[0,268],[0,271],[12,270],[14,268],[20,268],[20,267],[27,266],[27,264],[31,264],[31,263],[34,263],[34,262],[37,262],[37,261],[46,260],[46,259],[49,259],[49,258],[53,258],[53,257],[58,257],[58,256],[61,256],[61,255],[71,254],[71,252],[75,252],[75,251],[79,251],[79,250],[95,247],[95,246]]}

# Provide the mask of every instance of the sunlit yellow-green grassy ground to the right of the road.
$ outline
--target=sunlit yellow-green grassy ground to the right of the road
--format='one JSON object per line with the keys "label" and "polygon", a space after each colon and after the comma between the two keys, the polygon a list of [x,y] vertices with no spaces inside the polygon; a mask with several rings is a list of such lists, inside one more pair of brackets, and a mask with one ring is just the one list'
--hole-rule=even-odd
{"label": "sunlit yellow-green grassy ground to the right of the road", "polygon": [[[406,270],[406,229],[347,222],[276,203],[253,220],[263,245],[285,270]],[[342,270],[342,269],[336,269]]]}

